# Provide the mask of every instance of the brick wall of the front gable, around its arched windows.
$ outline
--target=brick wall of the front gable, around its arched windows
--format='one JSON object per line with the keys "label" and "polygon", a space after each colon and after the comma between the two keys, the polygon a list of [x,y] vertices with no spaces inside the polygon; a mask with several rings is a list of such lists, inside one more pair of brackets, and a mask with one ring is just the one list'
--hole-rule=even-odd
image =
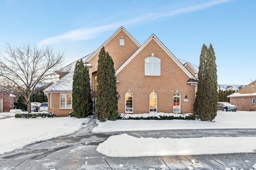
{"label": "brick wall of the front gable, around its arched windows", "polygon": [[[161,76],[144,75],[144,59],[151,53],[161,59]],[[152,90],[158,94],[158,112],[173,112],[173,94],[181,94],[181,113],[193,113],[194,88],[186,84],[189,77],[184,71],[152,40],[129,64],[116,76],[120,81],[117,91],[118,112],[125,112],[125,94],[130,90],[134,95],[134,113],[149,112],[149,95]],[[189,102],[184,102],[185,96]]]}

